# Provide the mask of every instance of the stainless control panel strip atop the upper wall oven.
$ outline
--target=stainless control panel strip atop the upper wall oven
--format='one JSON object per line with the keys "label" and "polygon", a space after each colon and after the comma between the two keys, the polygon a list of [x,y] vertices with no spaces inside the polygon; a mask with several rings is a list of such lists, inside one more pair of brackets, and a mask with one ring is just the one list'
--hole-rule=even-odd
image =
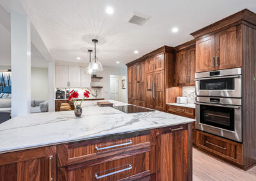
{"label": "stainless control panel strip atop the upper wall oven", "polygon": [[195,78],[213,77],[213,76],[210,76],[211,72],[220,72],[220,75],[214,75],[216,77],[218,77],[218,76],[228,76],[228,75],[242,75],[242,68],[232,68],[232,69],[220,69],[220,70],[214,70],[214,71],[204,71],[204,72],[196,73]]}

